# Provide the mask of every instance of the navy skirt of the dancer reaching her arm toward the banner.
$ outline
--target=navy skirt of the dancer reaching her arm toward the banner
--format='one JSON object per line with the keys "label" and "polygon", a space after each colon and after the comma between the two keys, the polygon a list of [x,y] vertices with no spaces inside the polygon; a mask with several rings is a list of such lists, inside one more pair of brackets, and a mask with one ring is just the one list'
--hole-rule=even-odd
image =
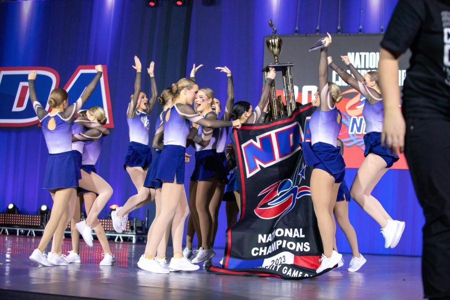
{"label": "navy skirt of the dancer reaching her arm toward the banner", "polygon": [[159,156],[155,178],[161,182],[184,183],[184,153],[186,148],[178,145],[164,145]]}

